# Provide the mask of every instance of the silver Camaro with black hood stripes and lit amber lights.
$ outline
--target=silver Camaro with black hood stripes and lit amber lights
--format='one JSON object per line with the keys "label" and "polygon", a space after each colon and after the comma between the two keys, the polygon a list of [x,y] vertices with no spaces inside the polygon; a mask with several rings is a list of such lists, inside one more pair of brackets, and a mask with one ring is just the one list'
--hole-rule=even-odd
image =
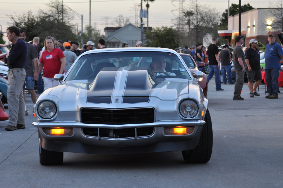
{"label": "silver Camaro with black hood stripes and lit amber lights", "polygon": [[63,152],[162,151],[208,162],[213,133],[202,77],[166,48],[83,53],[35,105],[40,163],[61,164]]}

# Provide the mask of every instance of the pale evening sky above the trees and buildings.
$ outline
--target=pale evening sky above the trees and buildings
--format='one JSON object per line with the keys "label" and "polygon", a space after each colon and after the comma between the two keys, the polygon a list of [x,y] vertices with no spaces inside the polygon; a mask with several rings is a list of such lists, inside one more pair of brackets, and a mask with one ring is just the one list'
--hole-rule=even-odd
{"label": "pale evening sky above the trees and buildings", "polygon": [[[154,2],[149,2],[149,27],[173,26],[172,20],[179,14],[177,9],[179,8],[180,1],[182,0],[155,0]],[[37,13],[39,9],[44,10],[46,3],[49,2],[49,0],[0,0],[0,25],[2,25],[2,32],[6,31],[8,27],[7,22],[10,22],[7,15],[20,15],[28,10]],[[249,3],[254,8],[268,8],[270,2],[275,4],[278,0],[242,0],[241,4]],[[130,17],[131,23],[135,24],[134,8],[140,3],[141,0],[91,0],[91,25],[96,23],[96,28],[105,35],[103,30],[106,26],[105,17],[108,17],[107,26],[114,27],[112,19],[120,14],[125,17]],[[213,2],[209,0],[198,0],[198,3],[205,4],[210,8],[215,8],[221,13],[228,8],[228,0],[214,0]],[[230,0],[230,5],[232,3],[239,4],[239,0]],[[143,2],[143,8],[145,8],[145,4],[146,3]],[[189,4],[190,0],[184,0],[183,8],[185,9]],[[70,7],[80,15],[83,14],[83,25],[89,24],[89,0],[63,0],[63,5]],[[143,18],[143,22],[146,26],[146,18]],[[78,16],[74,16],[73,23],[78,24],[80,30],[81,19]],[[6,34],[3,38],[7,41]]]}

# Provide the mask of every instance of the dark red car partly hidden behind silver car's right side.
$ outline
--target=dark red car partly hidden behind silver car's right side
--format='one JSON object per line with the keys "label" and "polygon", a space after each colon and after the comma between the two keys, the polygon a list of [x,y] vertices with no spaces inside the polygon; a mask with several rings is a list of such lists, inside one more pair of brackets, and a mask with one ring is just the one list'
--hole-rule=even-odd
{"label": "dark red car partly hidden behind silver car's right side", "polygon": [[[185,61],[186,66],[193,74],[196,71],[199,71],[198,68],[205,67],[205,63],[200,62],[199,67],[197,66],[196,62],[189,54],[179,54],[182,59]],[[203,78],[198,80],[198,84],[200,84],[201,89],[203,90],[203,94],[205,98],[207,98],[207,76],[203,74]]]}

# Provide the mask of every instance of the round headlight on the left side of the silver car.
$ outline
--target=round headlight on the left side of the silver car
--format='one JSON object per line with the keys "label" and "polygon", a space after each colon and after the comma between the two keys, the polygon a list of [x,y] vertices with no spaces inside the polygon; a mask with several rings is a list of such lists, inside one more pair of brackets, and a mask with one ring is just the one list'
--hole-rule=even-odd
{"label": "round headlight on the left side of the silver car", "polygon": [[56,113],[56,106],[51,101],[43,101],[38,105],[38,114],[45,119],[52,118]]}

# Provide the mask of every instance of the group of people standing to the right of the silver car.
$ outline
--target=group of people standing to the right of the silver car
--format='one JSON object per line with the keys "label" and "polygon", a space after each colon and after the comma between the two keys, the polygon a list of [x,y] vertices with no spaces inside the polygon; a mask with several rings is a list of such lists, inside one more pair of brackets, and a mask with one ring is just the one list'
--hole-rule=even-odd
{"label": "group of people standing to the right of the silver car", "polygon": [[[279,45],[275,42],[275,35],[270,33],[267,36],[269,44],[265,47],[265,79],[267,82],[268,95],[265,96],[267,99],[278,99],[279,86],[278,77],[280,70],[280,59],[283,58],[283,45]],[[249,47],[243,47],[244,36],[237,36],[235,38],[235,47],[233,52],[229,51],[227,44],[222,45],[223,49],[219,52],[218,37],[212,37],[212,43],[207,47],[202,44],[197,44],[188,48],[185,46],[185,50],[179,49],[178,53],[190,54],[198,65],[199,62],[205,62],[209,67],[209,75],[207,76],[207,82],[215,75],[215,89],[216,91],[224,91],[221,88],[221,83],[234,84],[232,80],[231,72],[231,60],[233,59],[234,70],[236,74],[236,81],[234,86],[233,100],[244,100],[241,97],[242,88],[244,85],[244,74],[246,72],[248,78],[248,88],[250,90],[249,96],[260,96],[256,89],[262,81],[262,74],[260,68],[260,52],[257,48],[258,41],[251,39],[249,41]],[[208,61],[207,61],[208,57]],[[221,64],[220,64],[221,62]],[[222,82],[220,77],[220,65],[222,73]],[[199,68],[203,71],[203,68]],[[227,73],[227,75],[226,75]],[[253,83],[255,81],[255,83]]]}

